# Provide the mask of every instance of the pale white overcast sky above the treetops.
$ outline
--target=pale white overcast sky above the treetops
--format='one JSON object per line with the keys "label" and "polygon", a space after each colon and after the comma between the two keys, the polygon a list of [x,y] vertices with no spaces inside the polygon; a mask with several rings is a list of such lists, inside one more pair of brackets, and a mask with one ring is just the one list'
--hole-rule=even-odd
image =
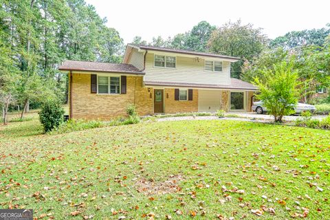
{"label": "pale white overcast sky above the treetops", "polygon": [[330,23],[329,0],[85,0],[94,5],[107,25],[130,43],[134,36],[174,36],[208,21],[221,26],[241,19],[263,28],[270,38],[292,30],[323,28]]}

